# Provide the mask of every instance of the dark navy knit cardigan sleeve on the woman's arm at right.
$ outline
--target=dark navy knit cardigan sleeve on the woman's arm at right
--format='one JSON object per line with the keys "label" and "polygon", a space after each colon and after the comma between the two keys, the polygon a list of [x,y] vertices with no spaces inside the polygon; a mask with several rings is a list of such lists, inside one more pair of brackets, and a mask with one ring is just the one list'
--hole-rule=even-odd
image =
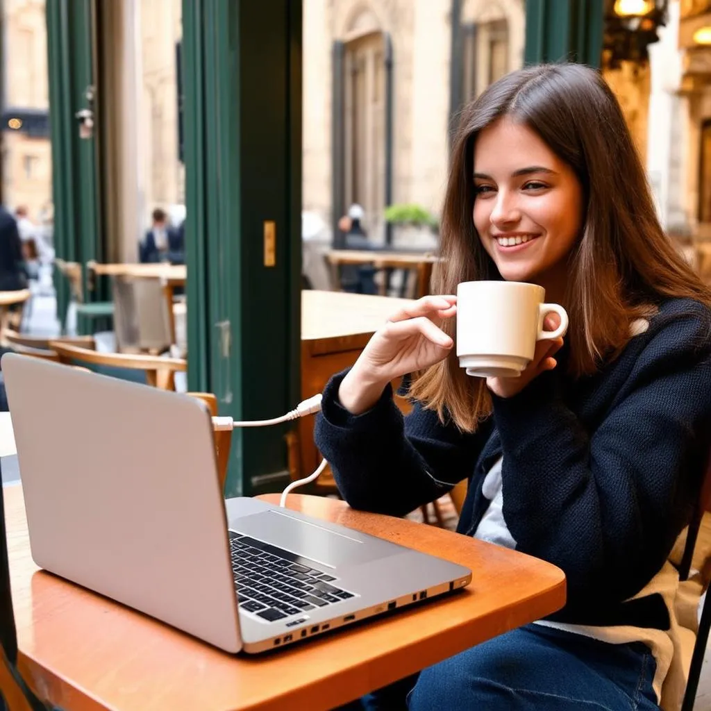
{"label": "dark navy knit cardigan sleeve on the woman's arm at right", "polygon": [[565,571],[569,611],[639,592],[688,523],[711,446],[707,321],[656,333],[594,426],[555,373],[493,398],[504,518],[518,550]]}

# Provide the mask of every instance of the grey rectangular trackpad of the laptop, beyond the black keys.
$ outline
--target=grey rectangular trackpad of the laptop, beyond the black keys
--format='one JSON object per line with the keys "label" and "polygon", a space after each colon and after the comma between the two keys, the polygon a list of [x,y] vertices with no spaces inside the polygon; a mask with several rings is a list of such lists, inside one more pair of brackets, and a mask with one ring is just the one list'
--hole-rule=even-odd
{"label": "grey rectangular trackpad of the laptop, beyond the black keys", "polygon": [[240,533],[331,567],[354,565],[394,552],[385,541],[361,541],[355,538],[361,535],[356,532],[352,536],[347,530],[335,533],[318,523],[292,518],[288,513],[275,510],[243,516],[231,523],[230,528]]}

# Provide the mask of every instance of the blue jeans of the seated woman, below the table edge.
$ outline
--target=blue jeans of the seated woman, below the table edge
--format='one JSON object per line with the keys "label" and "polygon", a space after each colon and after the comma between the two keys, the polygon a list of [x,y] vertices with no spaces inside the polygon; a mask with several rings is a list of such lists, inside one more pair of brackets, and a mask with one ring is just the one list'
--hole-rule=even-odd
{"label": "blue jeans of the seated woman, below the table edge", "polygon": [[360,703],[369,711],[658,711],[655,670],[642,643],[609,644],[530,624]]}

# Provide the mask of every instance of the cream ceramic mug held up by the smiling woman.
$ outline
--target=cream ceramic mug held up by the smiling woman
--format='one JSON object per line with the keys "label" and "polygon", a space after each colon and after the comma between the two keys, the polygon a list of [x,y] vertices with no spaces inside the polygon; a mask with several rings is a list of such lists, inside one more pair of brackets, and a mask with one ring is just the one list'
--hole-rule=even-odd
{"label": "cream ceramic mug held up by the smiling woman", "polygon": [[[545,289],[523,282],[462,282],[456,289],[456,355],[467,375],[518,378],[533,360],[535,344],[565,334],[568,315],[545,304]],[[548,314],[560,316],[544,331]]]}

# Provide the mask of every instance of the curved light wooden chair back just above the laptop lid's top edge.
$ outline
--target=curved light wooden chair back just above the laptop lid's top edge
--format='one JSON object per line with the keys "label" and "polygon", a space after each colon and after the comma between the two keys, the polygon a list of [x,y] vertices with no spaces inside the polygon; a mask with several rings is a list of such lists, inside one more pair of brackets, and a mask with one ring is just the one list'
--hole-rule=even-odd
{"label": "curved light wooden chair back just above the laptop lid's top edge", "polygon": [[[175,373],[184,373],[188,369],[188,362],[183,358],[101,353],[54,340],[50,340],[49,346],[57,353],[60,363],[84,365],[97,373],[114,375],[122,380],[143,382],[152,387],[160,387],[162,390],[175,390]],[[142,380],[141,373],[143,373]]]}

